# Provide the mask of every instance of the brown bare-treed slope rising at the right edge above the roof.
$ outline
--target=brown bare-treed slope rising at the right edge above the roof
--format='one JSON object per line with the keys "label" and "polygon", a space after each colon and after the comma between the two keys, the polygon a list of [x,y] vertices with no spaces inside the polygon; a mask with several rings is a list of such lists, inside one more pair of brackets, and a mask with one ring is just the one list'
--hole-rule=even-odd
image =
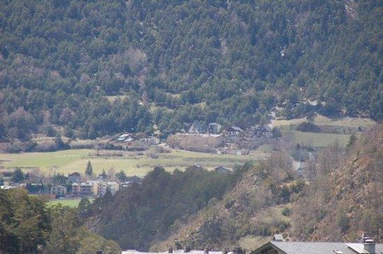
{"label": "brown bare-treed slope rising at the right edge above the roof", "polygon": [[322,158],[322,165],[329,167],[321,167],[317,179],[293,204],[291,236],[353,242],[365,232],[382,241],[382,126],[367,131],[346,157]]}

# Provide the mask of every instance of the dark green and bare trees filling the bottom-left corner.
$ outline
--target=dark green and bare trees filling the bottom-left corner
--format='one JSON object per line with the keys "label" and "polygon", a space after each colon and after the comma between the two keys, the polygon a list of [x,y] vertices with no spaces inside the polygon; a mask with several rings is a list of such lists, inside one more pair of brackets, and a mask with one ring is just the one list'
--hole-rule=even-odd
{"label": "dark green and bare trees filling the bottom-left corner", "polygon": [[28,195],[22,189],[0,190],[1,253],[121,253],[114,241],[90,232],[81,213]]}

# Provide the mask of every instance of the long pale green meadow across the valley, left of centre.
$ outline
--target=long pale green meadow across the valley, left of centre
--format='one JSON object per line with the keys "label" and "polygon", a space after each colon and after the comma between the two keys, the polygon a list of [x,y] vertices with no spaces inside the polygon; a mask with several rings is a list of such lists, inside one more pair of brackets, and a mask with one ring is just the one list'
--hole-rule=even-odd
{"label": "long pale green meadow across the valley, left of centre", "polygon": [[148,155],[136,153],[123,153],[124,156],[95,156],[95,150],[64,150],[59,152],[31,152],[23,154],[0,154],[0,164],[4,169],[22,167],[28,170],[40,170],[44,174],[64,173],[73,171],[83,173],[88,160],[92,163],[95,174],[114,169],[115,172],[123,170],[129,176],[145,176],[153,167],[161,166],[167,171],[184,169],[193,165],[201,165],[206,169],[218,166],[232,167],[235,164],[264,157],[262,154],[250,156],[215,155],[200,152],[186,152],[173,150],[170,153],[158,154],[154,159]]}

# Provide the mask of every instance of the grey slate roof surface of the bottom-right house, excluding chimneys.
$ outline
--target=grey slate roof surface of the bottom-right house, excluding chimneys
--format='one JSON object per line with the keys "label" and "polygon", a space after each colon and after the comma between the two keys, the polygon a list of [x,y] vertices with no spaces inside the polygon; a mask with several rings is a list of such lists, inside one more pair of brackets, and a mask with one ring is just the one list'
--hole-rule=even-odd
{"label": "grey slate roof surface of the bottom-right house, excluding chimneys", "polygon": [[[317,243],[317,242],[290,242],[271,241],[254,250],[252,254],[261,253],[261,250],[276,249],[285,254],[355,254],[368,253],[363,248],[363,243]],[[338,252],[336,252],[338,251]],[[375,253],[383,253],[383,243],[375,244]]]}

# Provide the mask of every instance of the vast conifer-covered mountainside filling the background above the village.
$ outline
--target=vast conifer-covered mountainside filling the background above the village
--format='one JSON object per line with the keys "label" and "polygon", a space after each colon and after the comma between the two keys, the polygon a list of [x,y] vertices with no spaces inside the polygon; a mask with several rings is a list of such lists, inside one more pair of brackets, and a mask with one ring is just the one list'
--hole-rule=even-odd
{"label": "vast conifer-covered mountainside filling the background above the village", "polygon": [[382,119],[382,16],[367,0],[1,1],[0,135],[167,135],[275,105]]}

